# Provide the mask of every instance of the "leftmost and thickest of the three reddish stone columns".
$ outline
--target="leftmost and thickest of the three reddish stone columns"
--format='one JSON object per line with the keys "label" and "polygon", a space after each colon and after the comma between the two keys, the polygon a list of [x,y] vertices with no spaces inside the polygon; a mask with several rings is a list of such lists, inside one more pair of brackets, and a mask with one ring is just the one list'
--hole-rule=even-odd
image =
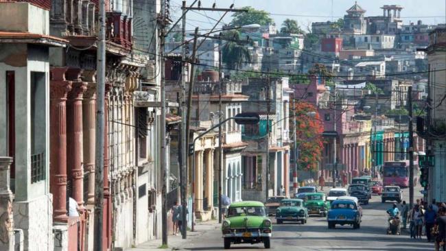
{"label": "leftmost and thickest of the three reddish stone columns", "polygon": [[54,222],[67,222],[67,68],[51,69],[50,95],[50,184]]}

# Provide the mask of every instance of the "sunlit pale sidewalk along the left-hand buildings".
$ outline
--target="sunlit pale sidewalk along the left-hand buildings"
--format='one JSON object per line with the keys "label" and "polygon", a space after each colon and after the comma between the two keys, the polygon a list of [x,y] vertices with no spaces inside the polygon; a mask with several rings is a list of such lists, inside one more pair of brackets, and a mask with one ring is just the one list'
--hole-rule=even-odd
{"label": "sunlit pale sidewalk along the left-hand buildings", "polygon": [[150,240],[145,243],[141,243],[136,248],[128,248],[126,250],[128,251],[181,250],[181,247],[185,246],[187,243],[190,243],[198,239],[198,237],[203,235],[204,232],[208,232],[218,228],[220,228],[220,224],[218,224],[218,221],[212,220],[209,222],[200,222],[196,224],[194,232],[187,231],[187,239],[183,239],[181,235],[177,236],[169,235],[167,237],[167,243],[169,244],[168,248],[159,248],[162,243],[162,240],[160,238],[160,239]]}

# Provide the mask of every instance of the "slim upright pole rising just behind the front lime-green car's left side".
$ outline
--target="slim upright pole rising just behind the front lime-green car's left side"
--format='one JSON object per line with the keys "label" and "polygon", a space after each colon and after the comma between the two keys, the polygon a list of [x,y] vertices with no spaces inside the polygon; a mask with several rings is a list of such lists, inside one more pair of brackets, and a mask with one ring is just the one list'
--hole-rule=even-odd
{"label": "slim upright pole rising just behind the front lime-green car's left side", "polygon": [[223,170],[223,149],[222,149],[222,48],[221,42],[218,43],[218,223],[222,223],[222,170]]}

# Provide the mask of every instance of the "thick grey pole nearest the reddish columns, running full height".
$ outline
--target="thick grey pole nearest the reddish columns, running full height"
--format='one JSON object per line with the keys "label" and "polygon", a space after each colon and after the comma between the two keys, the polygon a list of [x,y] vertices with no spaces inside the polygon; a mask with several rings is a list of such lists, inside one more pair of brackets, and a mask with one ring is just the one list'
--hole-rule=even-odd
{"label": "thick grey pole nearest the reddish columns, running full height", "polygon": [[99,0],[99,34],[97,36],[97,106],[95,159],[95,241],[94,250],[102,251],[104,211],[104,106],[105,106],[105,0]]}

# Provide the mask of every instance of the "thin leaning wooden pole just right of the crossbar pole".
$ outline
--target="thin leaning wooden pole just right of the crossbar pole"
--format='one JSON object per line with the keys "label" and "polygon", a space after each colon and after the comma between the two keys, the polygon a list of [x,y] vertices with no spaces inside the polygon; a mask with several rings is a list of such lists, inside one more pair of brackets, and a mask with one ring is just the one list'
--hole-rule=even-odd
{"label": "thin leaning wooden pole just right of the crossbar pole", "polygon": [[[193,38],[193,51],[192,51],[192,58],[191,58],[191,71],[189,73],[189,91],[187,93],[187,115],[186,115],[186,142],[189,145],[190,141],[190,126],[191,126],[191,108],[192,108],[192,93],[193,93],[193,82],[195,79],[194,73],[195,73],[195,61],[196,61],[196,53],[197,53],[197,39],[198,39],[198,27],[195,28],[195,36]],[[192,160],[194,161],[194,160]],[[195,170],[192,169],[192,174],[195,174]],[[193,226],[193,215],[196,208],[195,205],[195,191],[193,191],[193,187],[195,184],[195,175],[192,175],[192,232],[195,230],[195,227]]]}

